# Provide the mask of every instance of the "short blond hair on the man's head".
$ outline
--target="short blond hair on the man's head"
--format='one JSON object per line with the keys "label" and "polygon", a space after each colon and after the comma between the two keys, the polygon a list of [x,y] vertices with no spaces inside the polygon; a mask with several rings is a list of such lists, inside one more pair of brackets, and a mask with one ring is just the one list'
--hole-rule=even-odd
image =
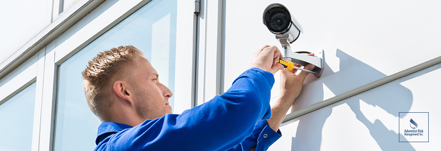
{"label": "short blond hair on the man's head", "polygon": [[108,96],[113,90],[113,83],[123,75],[130,74],[125,67],[137,66],[138,58],[143,55],[142,51],[131,45],[112,48],[98,53],[81,72],[87,104],[100,121],[107,119],[106,109],[112,105]]}

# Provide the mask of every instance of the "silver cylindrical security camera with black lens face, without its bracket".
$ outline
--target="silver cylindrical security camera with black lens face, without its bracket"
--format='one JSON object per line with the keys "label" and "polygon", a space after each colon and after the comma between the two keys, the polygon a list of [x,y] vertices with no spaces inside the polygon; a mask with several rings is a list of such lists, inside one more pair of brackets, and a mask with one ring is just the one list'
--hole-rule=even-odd
{"label": "silver cylindrical security camera with black lens face, without its bracket", "polygon": [[290,44],[297,40],[302,26],[291,15],[288,8],[280,3],[267,6],[263,13],[263,23],[276,36],[285,52],[291,51]]}

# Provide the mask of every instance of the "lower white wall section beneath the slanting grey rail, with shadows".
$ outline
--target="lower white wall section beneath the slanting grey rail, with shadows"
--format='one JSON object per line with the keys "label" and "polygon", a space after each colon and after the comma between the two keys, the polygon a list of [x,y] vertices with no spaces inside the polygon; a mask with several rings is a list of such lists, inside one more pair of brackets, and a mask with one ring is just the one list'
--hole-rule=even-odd
{"label": "lower white wall section beneath the slanting grey rail, with shadows", "polygon": [[[269,151],[434,151],[440,75],[437,64],[287,122]],[[406,117],[398,112],[429,112],[429,143],[398,142],[398,120]]]}

